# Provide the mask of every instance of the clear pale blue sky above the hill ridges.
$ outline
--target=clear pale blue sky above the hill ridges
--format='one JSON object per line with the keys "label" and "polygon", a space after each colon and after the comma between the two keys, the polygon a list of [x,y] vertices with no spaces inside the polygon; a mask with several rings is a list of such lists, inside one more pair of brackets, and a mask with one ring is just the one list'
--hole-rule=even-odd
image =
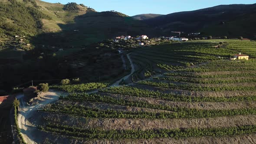
{"label": "clear pale blue sky above the hill ridges", "polygon": [[43,0],[49,3],[82,3],[98,12],[115,10],[128,16],[144,13],[169,14],[221,4],[253,4],[256,0]]}

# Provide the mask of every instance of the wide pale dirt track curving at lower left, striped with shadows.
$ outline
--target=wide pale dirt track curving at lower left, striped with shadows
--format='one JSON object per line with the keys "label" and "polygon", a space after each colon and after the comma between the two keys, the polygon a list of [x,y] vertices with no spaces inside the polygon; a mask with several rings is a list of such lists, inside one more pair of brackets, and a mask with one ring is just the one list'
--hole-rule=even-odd
{"label": "wide pale dirt track curving at lower left, striped with shadows", "polygon": [[38,138],[35,130],[37,130],[36,126],[30,123],[30,119],[35,116],[36,110],[43,105],[47,105],[59,99],[59,95],[63,94],[63,92],[54,92],[50,90],[49,92],[43,93],[41,96],[41,100],[38,101],[38,104],[32,106],[21,105],[19,108],[18,115],[18,124],[21,129],[21,134],[27,144],[36,144],[34,139]]}

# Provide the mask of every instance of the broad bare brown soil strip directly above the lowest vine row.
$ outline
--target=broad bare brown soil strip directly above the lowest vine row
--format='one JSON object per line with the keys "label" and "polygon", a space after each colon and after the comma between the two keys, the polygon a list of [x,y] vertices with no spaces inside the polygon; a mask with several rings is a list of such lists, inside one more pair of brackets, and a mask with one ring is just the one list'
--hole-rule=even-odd
{"label": "broad bare brown soil strip directly above the lowest vine row", "polygon": [[79,128],[101,128],[104,130],[131,129],[174,129],[174,128],[222,128],[256,124],[256,115],[236,115],[217,118],[178,118],[178,119],[126,119],[126,118],[82,118],[70,115],[45,113],[46,121],[58,122]]}

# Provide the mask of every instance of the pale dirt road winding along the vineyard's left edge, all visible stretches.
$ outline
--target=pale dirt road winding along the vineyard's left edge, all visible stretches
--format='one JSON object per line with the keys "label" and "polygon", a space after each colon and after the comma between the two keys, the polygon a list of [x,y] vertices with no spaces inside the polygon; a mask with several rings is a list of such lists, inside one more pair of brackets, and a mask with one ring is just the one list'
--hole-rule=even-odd
{"label": "pale dirt road winding along the vineyard's left edge, all visible stretches", "polygon": [[[131,61],[130,55],[131,53],[127,54],[127,57],[130,61],[131,64],[131,73],[129,75],[126,75],[125,77],[121,78],[117,82],[115,82],[113,85],[110,85],[110,87],[113,86],[118,86],[119,83],[122,81],[122,79],[127,79],[129,76],[131,76],[135,72],[135,67]],[[92,91],[92,92],[87,92],[88,94],[90,93],[95,93],[98,92],[98,90]],[[37,131],[38,129],[36,128],[36,125],[31,124],[30,120],[33,119],[36,114],[36,111],[38,108],[42,107],[43,105],[47,105],[50,103],[53,103],[59,99],[59,95],[65,94],[64,92],[56,92],[53,90],[49,90],[49,92],[43,93],[41,96],[40,100],[38,100],[36,105],[26,105],[26,103],[23,102],[23,97],[24,95],[20,95],[19,99],[21,101],[21,105],[19,108],[19,114],[18,114],[18,125],[21,129],[21,134],[24,138],[24,141],[27,144],[37,144],[35,142],[36,138],[38,138]],[[37,118],[37,117],[35,117]]]}

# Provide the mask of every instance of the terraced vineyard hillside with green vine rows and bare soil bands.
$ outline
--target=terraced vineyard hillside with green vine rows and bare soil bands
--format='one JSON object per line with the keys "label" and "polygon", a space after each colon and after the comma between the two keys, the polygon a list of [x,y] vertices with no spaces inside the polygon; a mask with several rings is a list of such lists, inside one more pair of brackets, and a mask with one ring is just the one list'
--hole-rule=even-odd
{"label": "terraced vineyard hillside with green vine rows and bare soil bands", "polygon": [[[97,144],[255,143],[256,60],[249,53],[254,44],[217,39],[135,50],[130,54],[137,70],[133,77],[139,80],[146,72],[150,79],[144,75],[130,85],[63,95],[31,119],[38,130],[30,138]],[[250,59],[228,60],[239,51]]]}

